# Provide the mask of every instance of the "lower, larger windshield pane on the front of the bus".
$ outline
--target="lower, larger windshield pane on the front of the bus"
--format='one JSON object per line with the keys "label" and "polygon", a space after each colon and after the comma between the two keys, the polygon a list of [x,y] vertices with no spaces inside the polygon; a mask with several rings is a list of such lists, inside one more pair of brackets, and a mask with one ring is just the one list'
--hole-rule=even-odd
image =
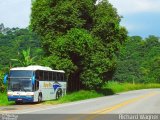
{"label": "lower, larger windshield pane on the front of the bus", "polygon": [[8,90],[31,92],[32,82],[30,79],[10,78]]}

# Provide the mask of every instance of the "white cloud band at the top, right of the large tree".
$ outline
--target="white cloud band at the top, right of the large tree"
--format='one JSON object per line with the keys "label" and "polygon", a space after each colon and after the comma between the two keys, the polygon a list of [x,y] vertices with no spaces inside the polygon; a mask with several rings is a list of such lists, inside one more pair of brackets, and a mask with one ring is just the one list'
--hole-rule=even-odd
{"label": "white cloud band at the top, right of the large tree", "polygon": [[142,12],[160,12],[160,0],[109,0],[118,12],[122,15],[142,13]]}

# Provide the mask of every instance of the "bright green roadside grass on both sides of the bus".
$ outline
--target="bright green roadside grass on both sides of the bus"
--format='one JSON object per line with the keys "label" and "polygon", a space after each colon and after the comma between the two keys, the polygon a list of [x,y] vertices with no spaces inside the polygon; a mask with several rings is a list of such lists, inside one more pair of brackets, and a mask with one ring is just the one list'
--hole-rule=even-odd
{"label": "bright green roadside grass on both sides of the bus", "polygon": [[[45,101],[43,102],[43,104],[61,104],[61,103],[116,94],[125,91],[149,89],[149,88],[160,88],[160,84],[131,84],[131,83],[118,83],[115,81],[111,81],[106,83],[101,91],[96,92],[94,90],[91,91],[81,90],[78,92],[69,93],[59,100]],[[8,102],[6,93],[0,93],[0,106],[11,105],[11,104],[14,104],[14,102]]]}

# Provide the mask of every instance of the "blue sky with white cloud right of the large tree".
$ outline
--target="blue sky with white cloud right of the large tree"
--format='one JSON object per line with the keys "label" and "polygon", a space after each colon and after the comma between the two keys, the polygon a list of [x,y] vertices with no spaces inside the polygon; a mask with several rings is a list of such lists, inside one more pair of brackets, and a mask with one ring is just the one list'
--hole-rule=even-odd
{"label": "blue sky with white cloud right of the large tree", "polygon": [[160,0],[109,0],[120,15],[129,35],[160,37]]}

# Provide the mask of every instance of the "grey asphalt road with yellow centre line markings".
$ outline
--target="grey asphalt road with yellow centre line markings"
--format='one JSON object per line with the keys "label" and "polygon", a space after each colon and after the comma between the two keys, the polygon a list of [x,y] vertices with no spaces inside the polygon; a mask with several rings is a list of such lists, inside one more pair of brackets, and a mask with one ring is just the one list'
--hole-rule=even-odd
{"label": "grey asphalt road with yellow centre line markings", "polygon": [[[0,107],[0,113],[21,114],[18,120],[120,120],[125,119],[126,114],[160,114],[160,89],[136,90],[61,105],[13,105]],[[152,117],[160,120],[160,116]]]}

